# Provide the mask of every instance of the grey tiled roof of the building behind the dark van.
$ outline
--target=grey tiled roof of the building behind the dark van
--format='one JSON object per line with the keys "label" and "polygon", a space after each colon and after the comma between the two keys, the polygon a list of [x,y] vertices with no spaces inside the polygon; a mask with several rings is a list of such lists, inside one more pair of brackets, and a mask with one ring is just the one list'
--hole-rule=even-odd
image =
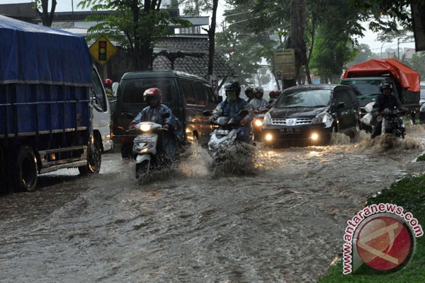
{"label": "grey tiled roof of the building behind the dark van", "polygon": [[[163,50],[169,53],[181,52],[183,57],[175,59],[174,70],[204,76],[208,74],[208,46],[208,36],[179,35],[165,37],[155,44],[154,50],[156,53]],[[153,65],[155,71],[171,69],[171,61],[161,55],[154,60]],[[234,76],[234,70],[229,66],[225,57],[218,52],[215,52],[214,56],[214,74],[219,78]]]}

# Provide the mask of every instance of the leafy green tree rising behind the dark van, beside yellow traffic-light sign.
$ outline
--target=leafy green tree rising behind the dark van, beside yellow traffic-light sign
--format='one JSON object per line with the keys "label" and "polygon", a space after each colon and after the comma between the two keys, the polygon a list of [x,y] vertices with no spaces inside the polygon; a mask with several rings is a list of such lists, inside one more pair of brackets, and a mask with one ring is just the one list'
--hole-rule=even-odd
{"label": "leafy green tree rising behind the dark van, beside yellow traffic-light sign", "polygon": [[[138,71],[152,69],[154,43],[160,37],[170,34],[171,23],[183,26],[190,24],[171,18],[168,12],[160,8],[161,0],[83,0],[78,6],[91,8],[94,13],[86,21],[98,21],[98,24],[89,28],[89,38],[104,34],[118,41],[132,57],[132,69]],[[103,16],[96,15],[97,11],[113,12]]]}

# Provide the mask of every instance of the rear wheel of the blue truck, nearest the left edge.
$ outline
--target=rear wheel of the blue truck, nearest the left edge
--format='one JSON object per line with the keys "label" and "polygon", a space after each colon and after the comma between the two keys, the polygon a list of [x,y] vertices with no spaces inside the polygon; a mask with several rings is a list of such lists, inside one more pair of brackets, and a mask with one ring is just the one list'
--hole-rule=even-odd
{"label": "rear wheel of the blue truck, nearest the left edge", "polygon": [[13,187],[17,190],[30,192],[37,185],[37,159],[30,146],[21,146],[16,156],[13,168]]}

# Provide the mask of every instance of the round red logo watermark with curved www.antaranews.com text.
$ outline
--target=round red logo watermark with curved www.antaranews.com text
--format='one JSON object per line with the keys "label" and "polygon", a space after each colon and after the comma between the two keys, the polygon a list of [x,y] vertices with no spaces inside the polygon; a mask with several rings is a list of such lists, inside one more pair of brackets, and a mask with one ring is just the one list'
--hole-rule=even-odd
{"label": "round red logo watermark with curved www.antaranews.com text", "polygon": [[377,272],[397,271],[412,258],[419,221],[396,204],[371,204],[359,211],[344,233],[344,275],[367,265]]}

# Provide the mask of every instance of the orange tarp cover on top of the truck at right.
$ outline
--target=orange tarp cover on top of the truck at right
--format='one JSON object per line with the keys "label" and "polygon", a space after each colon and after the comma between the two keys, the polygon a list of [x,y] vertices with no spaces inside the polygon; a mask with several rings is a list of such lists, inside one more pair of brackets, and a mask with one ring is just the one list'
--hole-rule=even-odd
{"label": "orange tarp cover on top of the truck at right", "polygon": [[390,74],[399,81],[407,91],[420,91],[419,73],[402,64],[396,59],[370,59],[346,69],[343,79],[361,78],[363,76],[384,76]]}

